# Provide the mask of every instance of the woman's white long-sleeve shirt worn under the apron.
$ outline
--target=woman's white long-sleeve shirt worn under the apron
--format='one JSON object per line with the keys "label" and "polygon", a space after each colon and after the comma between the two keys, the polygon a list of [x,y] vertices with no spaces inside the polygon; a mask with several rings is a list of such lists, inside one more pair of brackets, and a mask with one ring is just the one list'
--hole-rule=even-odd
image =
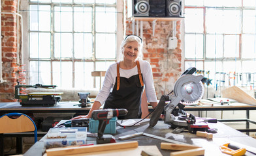
{"label": "woman's white long-sleeve shirt worn under the apron", "polygon": [[[140,61],[140,70],[143,76],[143,83],[145,87],[144,89],[146,89],[146,96],[147,96],[148,102],[157,102],[155,87],[153,85],[152,68],[150,66],[150,63],[146,60],[139,60],[139,61]],[[106,101],[106,98],[108,98],[108,94],[112,92],[113,87],[116,84],[116,76],[117,76],[116,66],[117,66],[116,63],[109,66],[108,70],[106,71],[106,75],[103,81],[103,86],[95,99],[95,101],[99,101],[101,105],[103,105],[103,103]],[[120,77],[129,78],[137,74],[138,74],[137,66],[135,66],[130,70],[123,70],[120,68]]]}

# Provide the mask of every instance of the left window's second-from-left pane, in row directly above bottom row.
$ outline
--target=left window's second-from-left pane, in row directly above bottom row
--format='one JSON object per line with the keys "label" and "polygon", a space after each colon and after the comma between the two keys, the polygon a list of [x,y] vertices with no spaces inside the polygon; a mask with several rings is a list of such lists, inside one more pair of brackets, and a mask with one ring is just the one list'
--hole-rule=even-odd
{"label": "left window's second-from-left pane, in row directly above bottom row", "polygon": [[54,57],[72,57],[71,33],[56,33],[54,41]]}

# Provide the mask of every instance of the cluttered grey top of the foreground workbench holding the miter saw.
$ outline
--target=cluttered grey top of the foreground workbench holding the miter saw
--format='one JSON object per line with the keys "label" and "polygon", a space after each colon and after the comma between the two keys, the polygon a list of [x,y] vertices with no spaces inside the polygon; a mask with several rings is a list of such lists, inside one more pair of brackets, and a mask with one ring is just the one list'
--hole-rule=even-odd
{"label": "cluttered grey top of the foreground workbench holding the miter saw", "polygon": [[[178,142],[183,142],[195,146],[201,146],[202,148],[205,149],[204,155],[206,156],[226,155],[224,153],[221,153],[221,151],[219,150],[219,146],[227,142],[242,144],[244,148],[249,146],[250,148],[255,149],[256,151],[255,138],[251,138],[250,136],[245,135],[244,133],[241,133],[236,129],[232,129],[231,127],[220,122],[209,123],[208,125],[212,129],[217,129],[217,133],[213,135],[213,139],[203,138],[185,131],[179,134],[173,134],[171,133],[173,129],[170,128],[170,125],[163,123],[163,121],[157,122],[155,127],[150,127],[148,121],[140,123],[140,125],[136,125],[133,127],[126,127],[125,129],[117,125],[116,135],[114,135],[114,137],[116,138],[117,142],[127,142],[136,140],[138,141],[138,146],[157,146],[162,155],[170,155],[171,152],[170,150],[160,148],[161,142],[166,141],[151,138],[144,135],[135,138],[130,138],[129,140],[118,140],[118,137],[124,135],[131,135],[138,132],[148,133],[156,136],[161,136],[163,138],[172,139]],[[34,144],[26,153],[24,153],[24,156],[42,156],[42,151],[44,150],[44,139],[45,137],[43,137],[41,140],[39,140],[39,142]],[[95,139],[96,138],[94,137],[88,136],[86,144],[96,144]],[[246,155],[253,154],[247,151]]]}

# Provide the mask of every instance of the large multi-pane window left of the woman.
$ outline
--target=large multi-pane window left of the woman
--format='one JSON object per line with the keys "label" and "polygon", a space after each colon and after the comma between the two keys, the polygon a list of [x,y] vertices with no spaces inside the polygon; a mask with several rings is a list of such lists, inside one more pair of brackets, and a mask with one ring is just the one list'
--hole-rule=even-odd
{"label": "large multi-pane window left of the woman", "polygon": [[[99,88],[94,70],[105,71],[118,51],[116,0],[31,0],[27,18],[28,83],[58,88]],[[119,6],[120,7],[120,6]]]}

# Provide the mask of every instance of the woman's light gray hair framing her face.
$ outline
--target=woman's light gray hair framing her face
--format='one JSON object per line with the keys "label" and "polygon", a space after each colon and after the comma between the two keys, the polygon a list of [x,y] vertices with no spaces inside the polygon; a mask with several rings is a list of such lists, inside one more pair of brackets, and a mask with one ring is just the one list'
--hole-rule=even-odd
{"label": "woman's light gray hair framing her face", "polygon": [[143,42],[142,42],[142,39],[140,39],[138,36],[136,35],[130,35],[130,36],[127,36],[127,38],[125,38],[122,42],[121,42],[121,54],[120,54],[120,60],[123,60],[123,47],[125,47],[125,45],[128,43],[128,42],[133,42],[133,41],[136,41],[138,42],[138,57],[136,60],[142,60],[143,59],[143,53],[142,53],[142,49],[143,49]]}

